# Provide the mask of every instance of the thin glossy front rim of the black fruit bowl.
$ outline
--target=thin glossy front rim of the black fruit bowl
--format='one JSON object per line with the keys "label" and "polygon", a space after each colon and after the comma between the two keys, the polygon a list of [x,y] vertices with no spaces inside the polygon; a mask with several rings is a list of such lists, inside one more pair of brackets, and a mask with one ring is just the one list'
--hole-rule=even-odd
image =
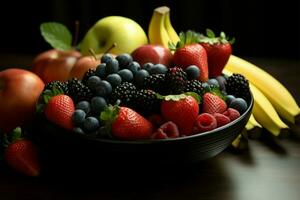
{"label": "thin glossy front rim of the black fruit bowl", "polygon": [[[76,134],[76,136],[78,136],[84,140],[93,141],[93,142],[102,142],[102,143],[107,143],[107,144],[123,144],[123,145],[156,144],[156,143],[167,143],[167,142],[175,142],[175,141],[192,140],[194,138],[201,138],[201,137],[205,137],[209,134],[213,134],[215,132],[222,131],[223,129],[226,129],[226,128],[230,127],[231,125],[236,124],[236,123],[240,122],[241,120],[243,120],[249,114],[249,112],[252,111],[252,108],[253,108],[254,98],[253,98],[251,91],[250,91],[250,101],[248,103],[249,103],[249,106],[248,106],[247,110],[239,118],[229,122],[228,124],[225,124],[221,127],[215,128],[211,131],[206,131],[203,133],[197,133],[197,134],[188,135],[188,136],[184,136],[184,137],[167,138],[167,139],[118,140],[118,139],[96,138],[96,137],[90,137],[90,136],[79,135],[79,134]],[[69,132],[72,132],[72,131],[69,131]]]}

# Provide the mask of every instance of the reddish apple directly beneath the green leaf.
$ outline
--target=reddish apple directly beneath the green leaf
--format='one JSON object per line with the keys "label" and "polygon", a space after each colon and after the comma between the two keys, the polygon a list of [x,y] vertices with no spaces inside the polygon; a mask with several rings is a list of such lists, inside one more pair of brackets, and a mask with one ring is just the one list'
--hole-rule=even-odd
{"label": "reddish apple directly beneath the green leaf", "polygon": [[33,61],[32,71],[45,83],[66,81],[81,53],[76,50],[59,51],[51,49],[39,54]]}

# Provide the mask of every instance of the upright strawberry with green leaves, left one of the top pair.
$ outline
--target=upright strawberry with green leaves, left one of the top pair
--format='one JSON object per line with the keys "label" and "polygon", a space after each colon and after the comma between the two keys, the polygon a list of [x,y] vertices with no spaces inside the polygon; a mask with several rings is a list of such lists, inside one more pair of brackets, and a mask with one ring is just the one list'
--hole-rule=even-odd
{"label": "upright strawberry with green leaves, left one of the top pair", "polygon": [[199,34],[187,31],[179,34],[180,41],[176,44],[170,44],[170,49],[175,51],[173,62],[175,66],[183,69],[190,65],[196,65],[200,69],[199,80],[206,82],[208,80],[207,54],[202,45],[198,44]]}

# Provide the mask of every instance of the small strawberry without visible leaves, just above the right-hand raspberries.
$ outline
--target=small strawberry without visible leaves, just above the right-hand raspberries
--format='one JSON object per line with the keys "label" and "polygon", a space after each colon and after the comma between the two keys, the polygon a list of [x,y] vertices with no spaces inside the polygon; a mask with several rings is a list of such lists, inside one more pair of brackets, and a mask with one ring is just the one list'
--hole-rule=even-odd
{"label": "small strawberry without visible leaves, just above the right-hand raspberries", "polygon": [[221,97],[212,94],[205,93],[202,99],[202,112],[204,113],[223,113],[227,109],[227,104]]}

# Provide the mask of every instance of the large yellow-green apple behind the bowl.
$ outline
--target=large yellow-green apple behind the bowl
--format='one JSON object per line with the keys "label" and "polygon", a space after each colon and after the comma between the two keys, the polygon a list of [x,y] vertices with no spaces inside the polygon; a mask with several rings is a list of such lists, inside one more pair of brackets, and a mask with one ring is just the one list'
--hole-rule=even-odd
{"label": "large yellow-green apple behind the bowl", "polygon": [[100,19],[84,36],[80,49],[82,55],[89,55],[89,49],[96,54],[106,52],[114,43],[116,47],[109,53],[131,53],[141,45],[148,43],[143,28],[132,19],[121,16],[109,16]]}

